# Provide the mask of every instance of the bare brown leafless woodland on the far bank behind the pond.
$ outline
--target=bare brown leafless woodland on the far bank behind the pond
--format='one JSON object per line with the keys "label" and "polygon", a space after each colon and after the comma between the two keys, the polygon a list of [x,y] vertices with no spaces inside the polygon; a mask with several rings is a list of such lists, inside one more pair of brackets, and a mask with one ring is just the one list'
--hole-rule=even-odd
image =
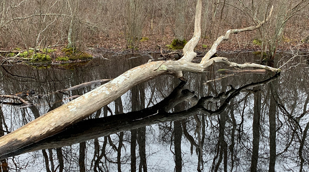
{"label": "bare brown leafless woodland on the far bank behind the pond", "polygon": [[[306,51],[308,3],[307,0],[204,0],[203,39],[197,48],[210,48],[228,29],[258,24],[273,5],[272,17],[266,25],[233,36],[218,50],[259,49],[273,54],[277,49],[292,47]],[[173,39],[191,38],[195,5],[193,0],[2,0],[0,49],[51,45],[117,51],[154,50],[156,45],[166,48]]]}

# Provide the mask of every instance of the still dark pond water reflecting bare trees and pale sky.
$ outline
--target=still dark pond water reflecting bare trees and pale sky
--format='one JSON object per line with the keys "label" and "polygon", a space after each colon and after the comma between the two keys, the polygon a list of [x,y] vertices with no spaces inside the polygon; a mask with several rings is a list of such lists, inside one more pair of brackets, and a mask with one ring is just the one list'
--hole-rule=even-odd
{"label": "still dark pond water reflecting bare trees and pale sky", "polygon": [[[18,102],[2,100],[0,134],[103,83],[64,94],[48,93],[115,78],[149,60],[137,54],[103,56],[110,60],[45,69],[1,68],[0,94],[33,89],[35,93],[25,99],[35,106],[20,107]],[[237,63],[259,63],[260,59],[252,53],[220,56]],[[274,67],[291,57],[277,55]],[[28,153],[2,160],[2,171],[6,162],[9,171],[308,171],[306,58],[297,56],[287,62],[277,79],[270,73],[235,74],[205,83],[222,77],[214,72],[218,69],[224,65],[212,66],[203,74],[184,73],[186,84],[171,76],[140,84],[84,121],[17,154]],[[270,78],[268,84],[255,84]],[[39,94],[47,96],[38,98]]]}

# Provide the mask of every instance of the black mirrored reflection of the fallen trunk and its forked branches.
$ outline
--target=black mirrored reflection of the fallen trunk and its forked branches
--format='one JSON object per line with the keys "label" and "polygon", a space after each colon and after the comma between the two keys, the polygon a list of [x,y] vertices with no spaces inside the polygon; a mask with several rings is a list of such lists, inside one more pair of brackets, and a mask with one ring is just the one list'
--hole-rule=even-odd
{"label": "black mirrored reflection of the fallen trunk and its forked branches", "polygon": [[[0,159],[35,150],[68,146],[98,137],[108,136],[120,131],[129,131],[160,122],[178,121],[197,114],[198,112],[202,112],[208,116],[218,115],[228,107],[229,102],[240,92],[246,91],[247,89],[258,85],[267,84],[276,79],[278,76],[279,75],[276,74],[270,79],[262,82],[251,83],[238,89],[231,88],[226,93],[220,93],[217,97],[202,97],[195,106],[187,110],[169,113],[168,111],[175,105],[185,101],[186,99],[194,97],[194,92],[190,92],[188,89],[182,90],[185,83],[180,83],[168,97],[164,98],[164,100],[152,107],[136,112],[128,112],[78,122],[58,134],[25,146],[19,150],[12,151],[9,154],[2,155]],[[222,105],[214,111],[206,109],[204,104],[213,100],[221,100]]]}

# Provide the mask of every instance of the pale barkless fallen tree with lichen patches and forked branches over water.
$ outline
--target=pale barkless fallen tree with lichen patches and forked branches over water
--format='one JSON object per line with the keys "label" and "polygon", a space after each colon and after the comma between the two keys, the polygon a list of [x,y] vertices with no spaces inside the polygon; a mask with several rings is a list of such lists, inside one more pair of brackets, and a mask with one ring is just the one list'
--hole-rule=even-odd
{"label": "pale barkless fallen tree with lichen patches and forked branches over water", "polygon": [[202,73],[210,65],[217,62],[225,63],[228,67],[234,67],[237,69],[254,67],[273,72],[280,72],[280,69],[254,63],[237,64],[229,62],[228,59],[224,57],[215,57],[210,59],[210,57],[216,53],[218,44],[223,40],[227,40],[230,33],[239,33],[242,31],[257,29],[267,20],[262,21],[259,25],[254,27],[227,31],[225,36],[219,37],[213,44],[212,48],[203,57],[201,63],[191,63],[196,56],[194,47],[199,42],[201,36],[201,11],[202,0],[198,0],[196,5],[194,35],[193,38],[185,45],[183,49],[184,56],[181,59],[177,61],[154,61],[130,69],[110,82],[76,98],[65,105],[62,105],[61,107],[56,108],[55,110],[46,113],[41,117],[38,117],[34,121],[20,127],[16,131],[0,137],[0,156],[61,132],[76,122],[88,117],[101,107],[114,101],[116,98],[130,90],[133,86],[160,75],[171,74],[178,79],[184,80],[182,77],[182,70]]}

